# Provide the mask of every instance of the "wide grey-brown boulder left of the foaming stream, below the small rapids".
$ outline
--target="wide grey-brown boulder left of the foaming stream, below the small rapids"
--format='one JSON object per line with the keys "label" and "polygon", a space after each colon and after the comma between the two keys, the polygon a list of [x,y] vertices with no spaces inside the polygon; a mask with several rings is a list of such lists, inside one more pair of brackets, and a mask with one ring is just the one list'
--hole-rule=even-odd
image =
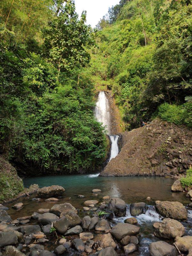
{"label": "wide grey-brown boulder left of the foaming stream, below the small rapids", "polygon": [[140,228],[135,225],[128,223],[118,223],[110,230],[110,233],[112,236],[120,241],[125,236],[135,236],[139,234],[139,231]]}

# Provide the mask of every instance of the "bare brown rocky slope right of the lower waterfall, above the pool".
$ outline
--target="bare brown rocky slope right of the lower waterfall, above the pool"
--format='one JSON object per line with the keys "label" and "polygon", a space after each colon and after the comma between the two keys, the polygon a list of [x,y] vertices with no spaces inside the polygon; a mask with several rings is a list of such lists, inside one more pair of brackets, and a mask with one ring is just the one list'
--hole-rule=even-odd
{"label": "bare brown rocky slope right of the lower waterfall, above the pool", "polygon": [[101,176],[176,176],[192,164],[192,131],[153,120],[123,134],[124,144]]}

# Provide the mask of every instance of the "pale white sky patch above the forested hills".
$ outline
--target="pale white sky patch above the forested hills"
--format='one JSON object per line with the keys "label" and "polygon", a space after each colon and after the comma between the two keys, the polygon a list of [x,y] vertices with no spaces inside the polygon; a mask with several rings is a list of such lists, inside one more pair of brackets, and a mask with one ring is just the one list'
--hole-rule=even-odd
{"label": "pale white sky patch above the forested hills", "polygon": [[92,28],[108,12],[108,8],[116,4],[119,0],[75,0],[76,12],[81,16],[83,10],[87,11],[87,24]]}

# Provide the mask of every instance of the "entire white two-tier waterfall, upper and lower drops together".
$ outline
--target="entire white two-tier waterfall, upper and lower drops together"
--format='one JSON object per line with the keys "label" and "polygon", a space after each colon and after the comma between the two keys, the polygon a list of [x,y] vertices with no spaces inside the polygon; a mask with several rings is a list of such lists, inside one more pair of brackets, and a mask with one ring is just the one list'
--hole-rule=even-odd
{"label": "entire white two-tier waterfall, upper and lower drops together", "polygon": [[[99,92],[98,95],[98,101],[96,103],[96,108],[95,108],[95,116],[97,121],[103,124],[103,126],[106,127],[107,133],[110,134],[110,107],[109,107],[109,102],[108,99],[105,95],[104,92]],[[111,140],[111,156],[109,159],[109,162],[111,161],[112,158],[115,158],[118,153],[119,153],[119,148],[118,148],[118,135],[110,135],[110,140]]]}

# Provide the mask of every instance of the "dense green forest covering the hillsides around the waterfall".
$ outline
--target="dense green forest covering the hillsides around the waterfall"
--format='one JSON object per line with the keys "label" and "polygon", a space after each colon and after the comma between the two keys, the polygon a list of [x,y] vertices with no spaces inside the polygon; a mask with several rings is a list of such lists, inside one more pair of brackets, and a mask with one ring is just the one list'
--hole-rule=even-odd
{"label": "dense green forest covering the hillsides around the waterfall", "polygon": [[73,0],[2,0],[0,154],[40,173],[94,170],[107,146],[101,89],[124,130],[156,116],[191,128],[191,18],[189,0],[121,0],[92,29]]}

